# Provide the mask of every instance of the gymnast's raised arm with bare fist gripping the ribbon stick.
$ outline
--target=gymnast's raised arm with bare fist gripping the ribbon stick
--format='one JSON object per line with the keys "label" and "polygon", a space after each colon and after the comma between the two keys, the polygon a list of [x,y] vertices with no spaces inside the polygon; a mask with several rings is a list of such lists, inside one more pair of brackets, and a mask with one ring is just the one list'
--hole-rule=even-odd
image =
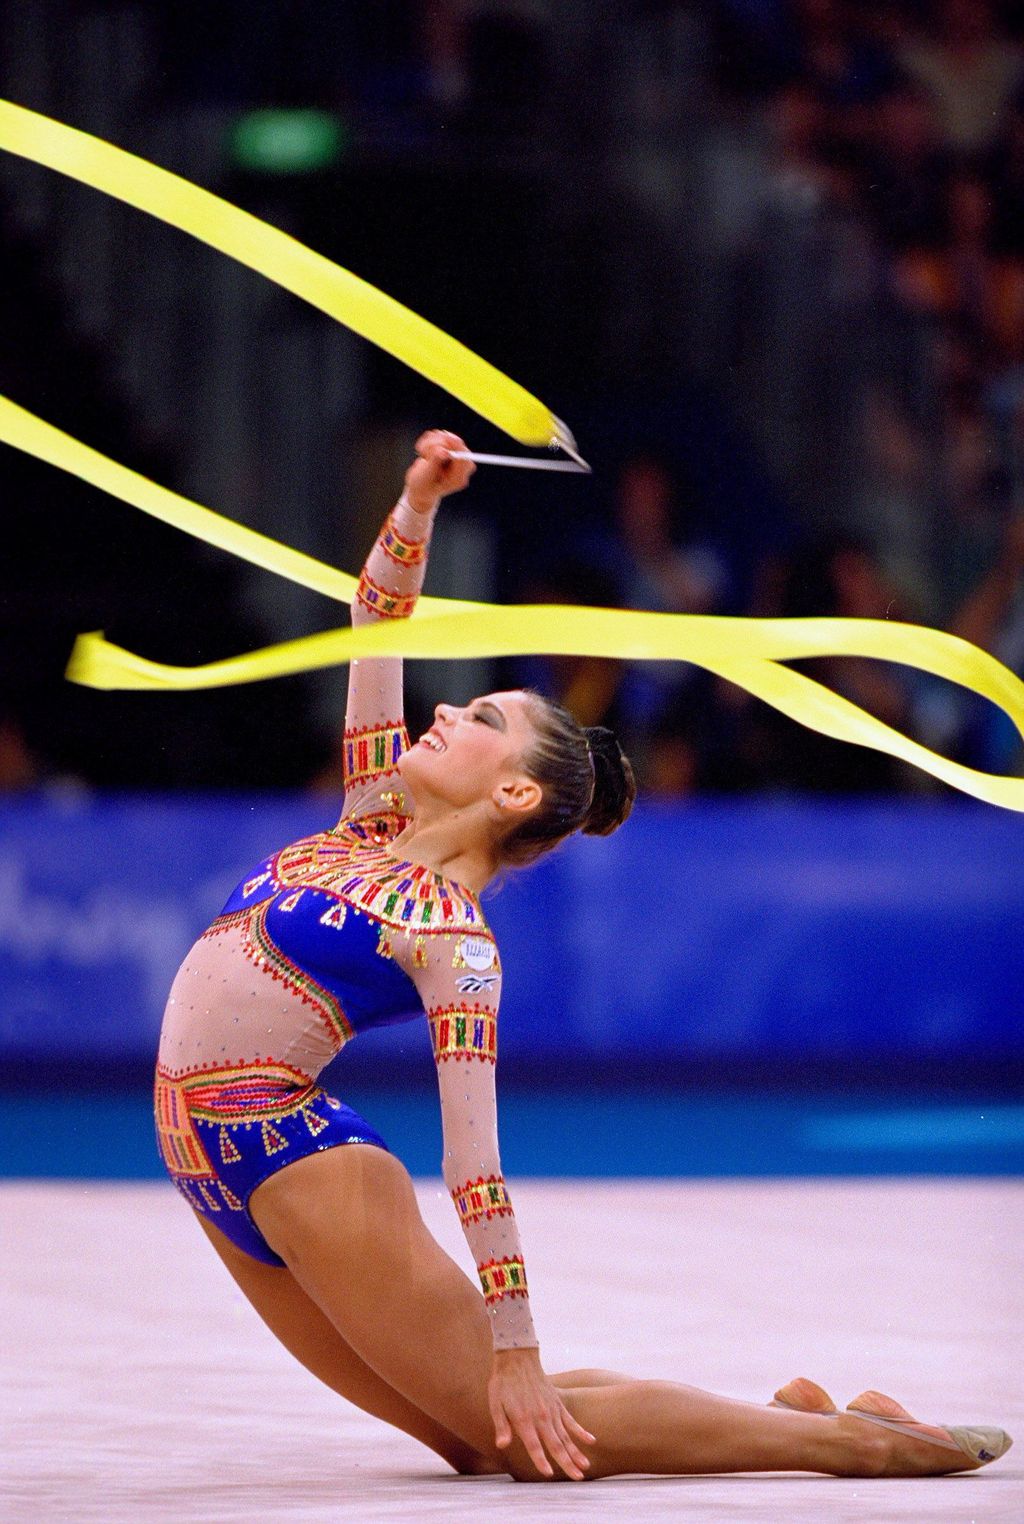
{"label": "gymnast's raised arm with bare fist gripping the ribbon stick", "polygon": [[[462,491],[477,469],[471,460],[451,459],[450,451],[465,448],[457,434],[443,428],[431,428],[416,440],[416,460],[405,472],[405,489],[360,575],[354,625],[411,614],[424,585],[437,504],[450,492]],[[404,712],[401,657],[352,663],[343,744],[344,815],[387,806],[389,783],[398,783],[395,764],[408,747]]]}

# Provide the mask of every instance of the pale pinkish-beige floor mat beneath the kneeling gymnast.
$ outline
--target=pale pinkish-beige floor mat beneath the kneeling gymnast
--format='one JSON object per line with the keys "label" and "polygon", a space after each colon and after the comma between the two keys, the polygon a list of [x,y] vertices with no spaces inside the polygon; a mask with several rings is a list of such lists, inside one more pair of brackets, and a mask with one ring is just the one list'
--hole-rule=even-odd
{"label": "pale pinkish-beige floor mat beneath the kneeling gymnast", "polygon": [[[465,1260],[440,1184],[421,1199]],[[0,1184],[0,1519],[1024,1521],[1024,1184],[521,1181],[549,1369],[987,1420],[971,1477],[742,1475],[524,1487],[448,1474],[294,1366],[165,1184]],[[1018,1458],[1019,1457],[1019,1458]]]}

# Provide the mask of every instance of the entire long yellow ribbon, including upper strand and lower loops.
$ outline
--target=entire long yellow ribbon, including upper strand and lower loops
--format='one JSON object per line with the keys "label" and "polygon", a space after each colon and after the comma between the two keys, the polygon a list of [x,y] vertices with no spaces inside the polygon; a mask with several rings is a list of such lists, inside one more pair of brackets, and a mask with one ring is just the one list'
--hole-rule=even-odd
{"label": "entire long yellow ribbon, including upper strand and lower loops", "polygon": [[[5,102],[0,102],[0,146],[75,175],[232,253],[421,369],[524,443],[571,437],[567,431],[561,434],[562,425],[542,404],[462,344],[209,192]],[[355,579],[346,573],[157,486],[6,398],[0,398],[0,439],[254,565],[343,602],[350,602],[355,594]],[[355,657],[526,652],[692,661],[812,730],[885,751],[975,799],[1024,811],[1024,779],[994,777],[949,762],[805,674],[779,664],[826,655],[898,661],[989,698],[1024,735],[1024,683],[968,642],[917,625],[847,619],[724,619],[561,605],[497,608],[424,597],[408,620],[328,631],[198,668],[148,661],[110,645],[102,634],[79,636],[67,675],[76,683],[104,689],[198,689],[253,683]]]}

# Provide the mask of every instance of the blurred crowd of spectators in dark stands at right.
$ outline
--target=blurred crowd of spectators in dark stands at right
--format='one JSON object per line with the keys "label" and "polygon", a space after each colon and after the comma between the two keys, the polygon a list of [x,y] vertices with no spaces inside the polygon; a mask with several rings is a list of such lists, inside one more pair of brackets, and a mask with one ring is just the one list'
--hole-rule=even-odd
{"label": "blurred crowd of spectators in dark stands at right", "polygon": [[[680,613],[931,623],[1024,675],[1024,8],[722,0],[715,21],[721,101],[762,113],[777,187],[852,221],[869,253],[884,341],[859,501],[827,533],[791,524],[736,578],[736,544],[687,523],[686,462],[640,453],[591,585]],[[581,596],[587,578],[573,584]],[[1019,771],[1009,721],[949,684],[850,658],[805,669],[957,760]],[[687,668],[536,675],[617,724],[655,794],[934,786]]]}

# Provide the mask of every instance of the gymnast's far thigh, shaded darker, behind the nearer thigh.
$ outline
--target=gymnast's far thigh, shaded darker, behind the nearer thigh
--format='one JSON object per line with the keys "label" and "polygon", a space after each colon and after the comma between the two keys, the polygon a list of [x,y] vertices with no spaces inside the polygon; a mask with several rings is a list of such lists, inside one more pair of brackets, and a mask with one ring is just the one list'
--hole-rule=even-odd
{"label": "gymnast's far thigh, shaded darker, behind the nearer thigh", "polygon": [[341,1338],[290,1269],[261,1263],[236,1248],[198,1212],[195,1218],[271,1334],[326,1387],[364,1413],[411,1434],[459,1472],[480,1475],[500,1469],[378,1376]]}

